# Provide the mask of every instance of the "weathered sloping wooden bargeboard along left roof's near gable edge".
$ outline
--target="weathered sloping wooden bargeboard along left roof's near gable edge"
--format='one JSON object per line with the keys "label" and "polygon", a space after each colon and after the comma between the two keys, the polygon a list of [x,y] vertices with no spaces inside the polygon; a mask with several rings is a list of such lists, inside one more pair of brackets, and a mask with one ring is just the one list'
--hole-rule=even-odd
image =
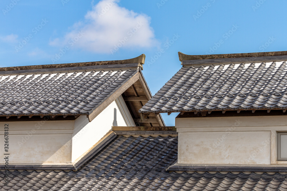
{"label": "weathered sloping wooden bargeboard along left roof's near gable edge", "polygon": [[90,115],[88,115],[89,121],[95,119],[108,105],[110,105],[115,99],[117,99],[127,88],[133,85],[139,79],[139,72],[125,82],[119,89],[117,89],[112,95],[110,95],[104,102],[100,104]]}

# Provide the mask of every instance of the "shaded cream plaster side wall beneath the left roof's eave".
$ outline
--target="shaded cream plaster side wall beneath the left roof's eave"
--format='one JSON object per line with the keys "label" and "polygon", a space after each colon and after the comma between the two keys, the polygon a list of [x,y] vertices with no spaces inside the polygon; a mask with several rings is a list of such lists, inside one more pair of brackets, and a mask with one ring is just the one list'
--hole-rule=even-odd
{"label": "shaded cream plaster side wall beneath the left roof's eave", "polygon": [[[9,125],[9,152],[4,151],[5,124]],[[0,122],[0,127],[0,155],[9,153],[9,164],[71,162],[74,121]],[[1,157],[0,164],[3,163]]]}

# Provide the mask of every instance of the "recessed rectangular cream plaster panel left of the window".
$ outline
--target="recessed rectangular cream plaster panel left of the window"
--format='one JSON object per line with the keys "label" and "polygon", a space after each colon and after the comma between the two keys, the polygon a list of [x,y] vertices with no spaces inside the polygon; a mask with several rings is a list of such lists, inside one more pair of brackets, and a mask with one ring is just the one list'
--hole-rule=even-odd
{"label": "recessed rectangular cream plaster panel left of the window", "polygon": [[179,133],[178,163],[267,165],[270,134],[270,131]]}

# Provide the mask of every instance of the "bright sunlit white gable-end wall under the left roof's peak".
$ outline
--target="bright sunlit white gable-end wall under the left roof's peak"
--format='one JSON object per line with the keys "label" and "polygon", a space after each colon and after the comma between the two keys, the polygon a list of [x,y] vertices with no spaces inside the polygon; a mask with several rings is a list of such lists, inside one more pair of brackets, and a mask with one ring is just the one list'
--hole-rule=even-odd
{"label": "bright sunlit white gable-end wall under the left roof's peak", "polygon": [[[118,104],[120,103],[118,99],[116,101]],[[96,144],[102,137],[104,137],[104,135],[111,130],[112,126],[129,125],[128,123],[130,122],[128,122],[127,116],[123,116],[129,115],[129,119],[131,118],[127,106],[118,106],[116,101],[113,101],[90,123],[86,116],[80,116],[75,120],[75,129],[72,141],[72,162],[76,161],[79,157],[81,157],[81,155]],[[125,107],[124,111],[120,111],[119,107]],[[115,109],[116,123],[114,120]]]}

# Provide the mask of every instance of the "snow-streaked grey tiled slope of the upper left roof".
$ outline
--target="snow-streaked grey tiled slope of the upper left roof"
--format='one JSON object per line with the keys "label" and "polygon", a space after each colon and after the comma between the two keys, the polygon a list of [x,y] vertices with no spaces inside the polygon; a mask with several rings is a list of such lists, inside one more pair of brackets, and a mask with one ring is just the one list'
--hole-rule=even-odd
{"label": "snow-streaked grey tiled slope of the upper left roof", "polygon": [[99,71],[89,67],[98,66],[86,66],[84,72],[63,71],[69,68],[23,75],[0,72],[0,115],[88,115],[137,73],[129,68]]}

